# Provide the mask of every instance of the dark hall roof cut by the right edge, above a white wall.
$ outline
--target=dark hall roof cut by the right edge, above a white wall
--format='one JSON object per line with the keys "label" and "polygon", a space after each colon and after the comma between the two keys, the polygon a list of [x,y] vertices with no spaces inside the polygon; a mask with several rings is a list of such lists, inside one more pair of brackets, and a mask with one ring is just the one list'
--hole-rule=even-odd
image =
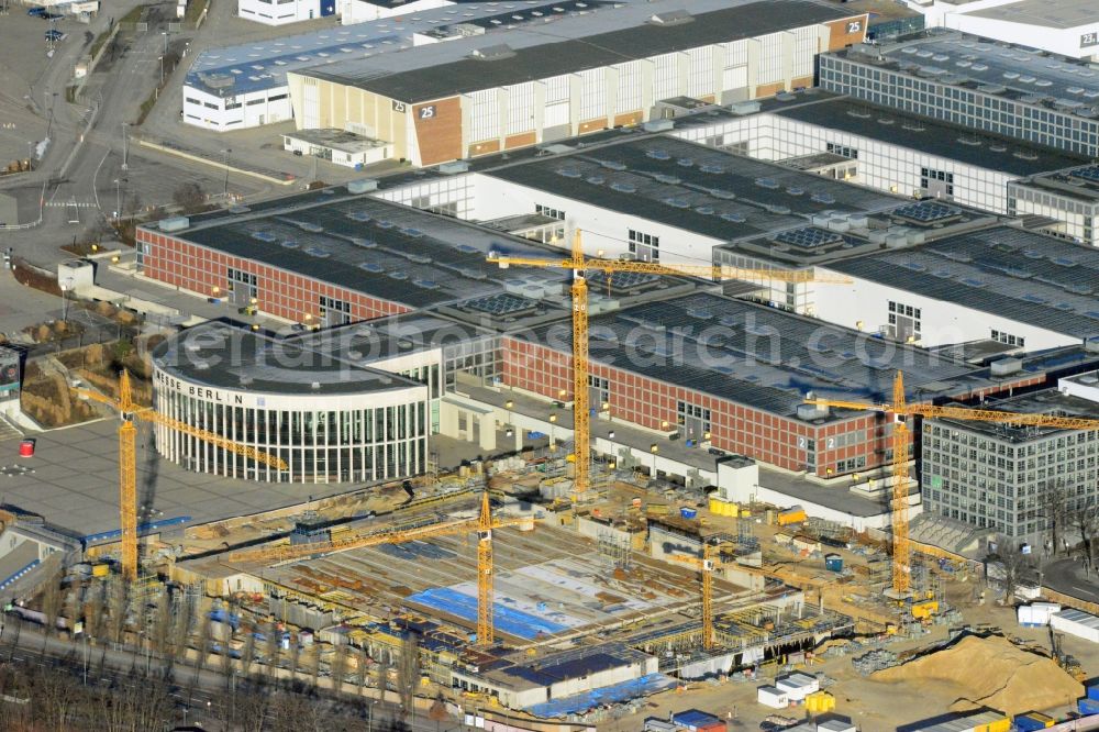
{"label": "dark hall roof cut by the right edge, above a white wall", "polygon": [[1099,334],[1099,248],[998,225],[829,269],[1076,337]]}

